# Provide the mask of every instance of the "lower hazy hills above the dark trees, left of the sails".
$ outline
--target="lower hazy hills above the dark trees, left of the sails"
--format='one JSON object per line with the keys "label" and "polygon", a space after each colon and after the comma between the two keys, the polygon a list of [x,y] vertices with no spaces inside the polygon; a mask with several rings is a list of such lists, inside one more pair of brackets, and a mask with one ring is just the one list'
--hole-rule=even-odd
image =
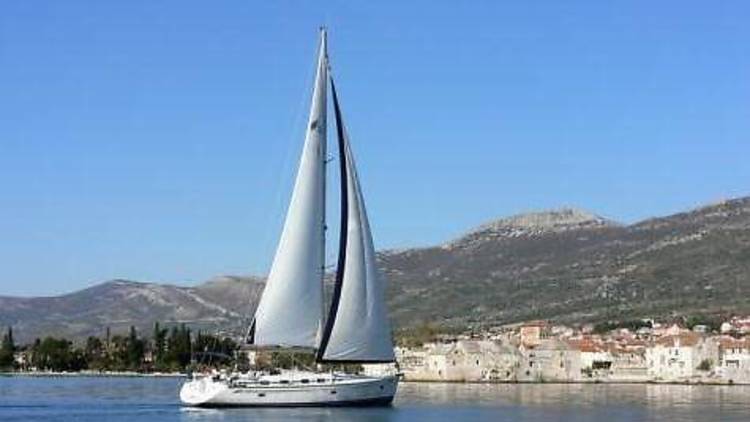
{"label": "lower hazy hills above the dark trees, left of the sails", "polygon": [[247,298],[262,288],[254,277],[218,277],[192,288],[112,280],[56,297],[0,297],[0,324],[13,326],[21,342],[43,335],[102,336],[107,327],[123,333],[131,325],[150,334],[154,321],[237,328],[249,315]]}

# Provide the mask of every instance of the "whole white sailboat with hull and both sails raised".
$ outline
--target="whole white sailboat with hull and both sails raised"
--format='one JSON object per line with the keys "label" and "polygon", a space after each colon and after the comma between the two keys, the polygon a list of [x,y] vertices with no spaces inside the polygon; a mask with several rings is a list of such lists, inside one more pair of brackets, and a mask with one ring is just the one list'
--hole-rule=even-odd
{"label": "whole white sailboat with hull and both sails raised", "polygon": [[[330,307],[325,309],[327,97],[336,120],[341,222]],[[180,390],[191,406],[387,405],[398,386],[393,371],[323,371],[324,364],[395,361],[385,304],[385,280],[375,249],[349,135],[330,75],[325,28],[294,190],[265,289],[249,327],[252,347],[304,349],[317,368],[194,375]],[[330,366],[330,365],[329,365]],[[351,365],[349,365],[351,366]]]}

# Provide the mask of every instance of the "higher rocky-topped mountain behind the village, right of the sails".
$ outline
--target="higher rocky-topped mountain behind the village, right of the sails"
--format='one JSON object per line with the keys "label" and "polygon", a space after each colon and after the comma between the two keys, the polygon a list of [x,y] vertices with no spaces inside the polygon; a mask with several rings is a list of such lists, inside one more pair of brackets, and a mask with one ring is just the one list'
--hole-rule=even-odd
{"label": "higher rocky-topped mountain behind the village, right of the sails", "polygon": [[750,310],[750,198],[621,225],[564,209],[383,254],[396,321],[597,321]]}

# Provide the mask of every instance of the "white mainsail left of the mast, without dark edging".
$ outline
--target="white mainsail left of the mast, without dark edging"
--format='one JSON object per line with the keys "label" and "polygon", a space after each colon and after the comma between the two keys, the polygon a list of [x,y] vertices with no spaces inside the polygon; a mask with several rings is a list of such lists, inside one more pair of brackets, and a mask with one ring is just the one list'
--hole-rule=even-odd
{"label": "white mainsail left of the mast, without dark edging", "polygon": [[276,256],[250,329],[264,346],[317,347],[323,318],[328,58],[321,31],[305,145]]}

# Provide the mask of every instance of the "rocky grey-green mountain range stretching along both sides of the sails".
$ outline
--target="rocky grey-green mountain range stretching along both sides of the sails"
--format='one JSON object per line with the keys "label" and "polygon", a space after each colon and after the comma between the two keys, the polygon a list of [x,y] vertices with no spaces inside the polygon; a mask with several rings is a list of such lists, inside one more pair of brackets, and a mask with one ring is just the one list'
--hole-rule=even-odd
{"label": "rocky grey-green mountain range stretching along both sides of the sails", "polygon": [[[397,326],[599,321],[750,311],[750,198],[623,225],[581,210],[500,219],[429,248],[383,251]],[[153,321],[242,330],[263,279],[195,287],[115,280],[58,297],[0,297],[28,341]]]}

